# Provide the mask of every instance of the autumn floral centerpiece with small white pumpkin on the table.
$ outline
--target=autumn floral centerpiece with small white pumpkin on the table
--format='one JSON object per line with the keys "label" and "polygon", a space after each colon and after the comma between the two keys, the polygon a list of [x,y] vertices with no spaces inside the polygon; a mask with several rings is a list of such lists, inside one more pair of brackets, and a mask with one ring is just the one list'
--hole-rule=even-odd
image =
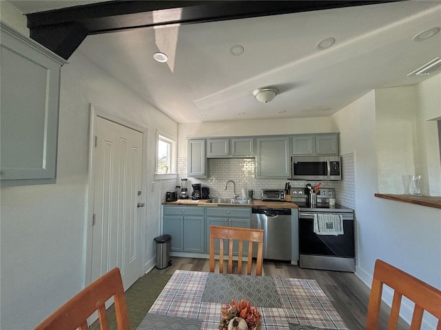
{"label": "autumn floral centerpiece with small white pumpkin on the table", "polygon": [[249,300],[240,300],[238,303],[232,299],[232,305],[221,308],[222,320],[219,330],[259,330],[262,316],[257,307],[251,306]]}

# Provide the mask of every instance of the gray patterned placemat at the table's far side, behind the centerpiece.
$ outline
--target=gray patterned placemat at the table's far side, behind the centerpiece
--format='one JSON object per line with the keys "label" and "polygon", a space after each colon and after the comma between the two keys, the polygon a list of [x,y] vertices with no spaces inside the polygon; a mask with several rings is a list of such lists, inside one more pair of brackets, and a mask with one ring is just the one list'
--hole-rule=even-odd
{"label": "gray patterned placemat at the table's far side, behind the centerpiece", "polygon": [[229,304],[247,297],[251,305],[280,308],[274,280],[267,276],[209,273],[202,301]]}

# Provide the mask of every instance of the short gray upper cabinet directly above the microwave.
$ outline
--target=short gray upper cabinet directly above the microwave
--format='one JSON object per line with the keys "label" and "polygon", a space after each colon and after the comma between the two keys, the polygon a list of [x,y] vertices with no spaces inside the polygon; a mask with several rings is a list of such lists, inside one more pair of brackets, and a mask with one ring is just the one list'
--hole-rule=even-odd
{"label": "short gray upper cabinet directly above the microwave", "polygon": [[292,155],[338,155],[338,152],[338,133],[292,137]]}

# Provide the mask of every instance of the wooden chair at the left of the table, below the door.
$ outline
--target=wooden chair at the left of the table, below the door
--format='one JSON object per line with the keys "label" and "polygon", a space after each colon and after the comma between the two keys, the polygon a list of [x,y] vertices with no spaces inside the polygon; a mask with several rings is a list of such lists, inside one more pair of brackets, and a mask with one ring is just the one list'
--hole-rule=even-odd
{"label": "wooden chair at the left of the table, below the door", "polygon": [[125,305],[123,281],[119,268],[114,268],[85,287],[34,330],[88,330],[88,318],[98,311],[101,330],[108,330],[105,302],[114,297],[116,326],[118,330],[130,330]]}

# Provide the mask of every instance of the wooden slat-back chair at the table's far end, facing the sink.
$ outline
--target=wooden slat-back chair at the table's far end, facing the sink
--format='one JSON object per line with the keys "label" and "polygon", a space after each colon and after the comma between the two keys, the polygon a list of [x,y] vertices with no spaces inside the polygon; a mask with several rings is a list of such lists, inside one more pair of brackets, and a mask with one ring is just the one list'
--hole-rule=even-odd
{"label": "wooden slat-back chair at the table's far end, facing the sink", "polygon": [[237,272],[242,274],[242,261],[243,261],[243,241],[248,241],[248,262],[247,262],[247,274],[251,275],[252,272],[252,255],[253,255],[253,242],[257,245],[257,261],[256,261],[256,275],[262,275],[263,268],[263,233],[261,229],[249,229],[249,228],[234,228],[234,227],[221,227],[218,225],[209,226],[209,271],[214,272],[214,240],[219,239],[219,272],[223,273],[223,241],[228,239],[228,267],[227,273],[233,272],[233,242],[238,241],[238,264]]}

